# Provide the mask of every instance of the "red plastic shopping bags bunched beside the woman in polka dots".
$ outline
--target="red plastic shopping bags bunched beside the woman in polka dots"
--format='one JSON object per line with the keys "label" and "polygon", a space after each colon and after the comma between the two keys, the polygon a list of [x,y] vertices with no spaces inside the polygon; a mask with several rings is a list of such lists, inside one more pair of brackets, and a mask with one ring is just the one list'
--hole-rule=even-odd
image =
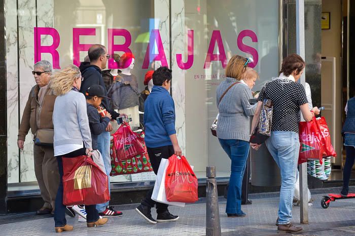
{"label": "red plastic shopping bags bunched beside the woman in polka dots", "polygon": [[324,117],[313,117],[310,122],[300,122],[299,132],[301,146],[298,164],[308,160],[319,160],[322,164],[324,157],[336,156]]}

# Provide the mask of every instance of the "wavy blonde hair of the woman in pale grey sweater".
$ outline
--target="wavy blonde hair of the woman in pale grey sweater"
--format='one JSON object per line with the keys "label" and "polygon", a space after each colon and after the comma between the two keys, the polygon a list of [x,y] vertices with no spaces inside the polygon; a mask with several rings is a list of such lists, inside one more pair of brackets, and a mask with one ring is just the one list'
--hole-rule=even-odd
{"label": "wavy blonde hair of the woman in pale grey sweater", "polygon": [[56,95],[64,95],[72,90],[75,79],[80,76],[81,73],[78,66],[67,65],[52,75],[51,88]]}

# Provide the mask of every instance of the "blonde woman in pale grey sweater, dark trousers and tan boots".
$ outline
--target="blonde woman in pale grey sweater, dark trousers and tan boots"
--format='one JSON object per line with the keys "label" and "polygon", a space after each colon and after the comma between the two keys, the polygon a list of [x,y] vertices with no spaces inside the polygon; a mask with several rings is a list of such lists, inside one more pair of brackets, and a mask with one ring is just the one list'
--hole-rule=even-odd
{"label": "blonde woman in pale grey sweater, dark trousers and tan boots", "polygon": [[[57,158],[60,183],[55,200],[55,231],[70,231],[73,226],[66,224],[65,206],[63,205],[63,163],[62,156],[74,158],[79,155],[91,155],[91,134],[86,100],[80,93],[82,76],[79,67],[68,65],[53,75],[51,87],[58,95],[54,103],[54,156]],[[88,227],[105,224],[108,219],[101,218],[96,205],[85,206]]]}

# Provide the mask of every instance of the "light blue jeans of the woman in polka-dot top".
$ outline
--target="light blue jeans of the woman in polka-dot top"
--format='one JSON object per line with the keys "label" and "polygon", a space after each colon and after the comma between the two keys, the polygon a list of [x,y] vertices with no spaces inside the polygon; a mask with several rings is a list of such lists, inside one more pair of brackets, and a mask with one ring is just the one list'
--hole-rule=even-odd
{"label": "light blue jeans of the woman in polka-dot top", "polygon": [[292,219],[292,201],[300,151],[299,134],[291,131],[273,131],[266,146],[281,172],[278,223],[288,224]]}

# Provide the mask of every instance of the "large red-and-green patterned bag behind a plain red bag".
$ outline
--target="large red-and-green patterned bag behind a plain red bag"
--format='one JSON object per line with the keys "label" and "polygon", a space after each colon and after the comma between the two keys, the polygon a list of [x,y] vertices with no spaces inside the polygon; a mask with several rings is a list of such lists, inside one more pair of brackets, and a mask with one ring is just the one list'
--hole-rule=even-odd
{"label": "large red-and-green patterned bag behind a plain red bag", "polygon": [[[138,133],[138,135],[143,139],[144,132]],[[144,153],[135,155],[132,158],[127,160],[122,160],[117,156],[116,148],[113,141],[113,136],[111,136],[110,144],[110,154],[111,154],[111,173],[110,176],[116,175],[128,175],[128,174],[137,174],[142,172],[151,172],[153,171],[152,165],[149,160],[147,147],[144,141],[141,141],[145,149]]]}

